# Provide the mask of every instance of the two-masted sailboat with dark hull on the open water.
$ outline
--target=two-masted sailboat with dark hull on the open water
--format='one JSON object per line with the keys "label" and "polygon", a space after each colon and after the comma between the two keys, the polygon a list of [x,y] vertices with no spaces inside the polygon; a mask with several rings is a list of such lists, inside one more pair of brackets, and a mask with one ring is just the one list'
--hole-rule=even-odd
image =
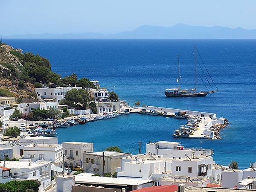
{"label": "two-masted sailboat with dark hull on the open water", "polygon": [[[178,74],[178,78],[177,78],[177,83],[179,83],[179,87],[178,88],[172,88],[172,89],[166,89],[165,90],[166,97],[205,97],[209,93],[215,93],[215,92],[218,91],[218,88],[216,87],[215,83],[212,80],[212,77],[210,76],[208,70],[206,69],[206,67],[204,65],[204,67],[207,70],[207,73],[208,73],[210,79],[212,80],[213,84],[215,85],[216,89],[215,90],[208,90],[207,86],[204,84],[205,87],[207,88],[207,91],[199,91],[198,92],[198,90],[197,90],[197,74],[198,74],[198,72],[197,72],[197,63],[198,63],[198,61],[197,61],[197,57],[196,57],[196,52],[198,52],[198,50],[197,50],[196,47],[194,47],[194,55],[195,55],[195,88],[194,89],[183,89],[183,90],[180,88],[180,80],[181,80],[181,75],[180,75],[180,55],[178,55],[177,56],[177,58],[178,58],[177,60],[178,60],[178,73],[179,74]],[[198,52],[198,54],[199,54],[199,52]],[[201,56],[200,56],[200,58],[201,58]],[[200,68],[201,68],[201,66],[200,66]],[[201,68],[201,70],[202,70],[202,68]],[[203,70],[202,70],[202,72],[204,73]],[[207,79],[207,76],[205,74],[204,74],[204,76]],[[201,78],[201,76],[200,76],[200,78]],[[202,80],[202,78],[201,78],[201,80]],[[208,79],[207,79],[207,81],[208,81]],[[204,83],[204,81],[203,81],[203,83]],[[208,81],[208,83],[209,83],[209,81]],[[211,84],[210,84],[210,86],[211,86]]]}

